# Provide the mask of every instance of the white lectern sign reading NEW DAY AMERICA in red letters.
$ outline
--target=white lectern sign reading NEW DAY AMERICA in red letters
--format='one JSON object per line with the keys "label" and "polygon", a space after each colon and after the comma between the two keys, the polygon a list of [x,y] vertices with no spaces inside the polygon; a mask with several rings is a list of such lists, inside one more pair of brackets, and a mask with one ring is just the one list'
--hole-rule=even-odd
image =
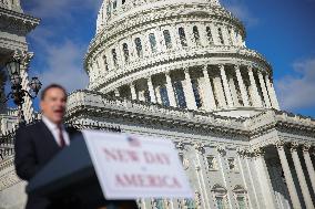
{"label": "white lectern sign reading NEW DAY AMERICA in red letters", "polygon": [[106,199],[193,198],[171,140],[83,132]]}

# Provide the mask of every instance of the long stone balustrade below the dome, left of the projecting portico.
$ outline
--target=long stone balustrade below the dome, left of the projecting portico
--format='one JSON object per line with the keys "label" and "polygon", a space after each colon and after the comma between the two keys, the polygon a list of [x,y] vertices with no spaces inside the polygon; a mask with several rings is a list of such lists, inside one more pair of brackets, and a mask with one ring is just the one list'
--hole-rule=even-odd
{"label": "long stone balustrade below the dome, left of the projecting portico", "polygon": [[[181,125],[191,124],[197,126],[225,127],[245,132],[243,118],[219,116],[212,113],[192,112],[176,107],[165,107],[159,104],[148,104],[139,101],[126,101],[119,97],[109,97],[101,93],[90,91],[78,91],[72,93],[68,100],[67,117],[71,118],[79,109],[103,108],[113,113],[146,116],[161,121],[171,121]],[[91,109],[92,111],[92,109]],[[96,111],[96,109],[94,109]]]}

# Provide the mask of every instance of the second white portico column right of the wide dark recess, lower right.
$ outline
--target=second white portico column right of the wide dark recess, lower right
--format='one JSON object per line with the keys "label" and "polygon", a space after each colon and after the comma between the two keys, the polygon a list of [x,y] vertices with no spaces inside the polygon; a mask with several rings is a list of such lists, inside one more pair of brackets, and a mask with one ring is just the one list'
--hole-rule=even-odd
{"label": "second white portico column right of the wide dark recess, lower right", "polygon": [[298,154],[297,154],[297,148],[298,148],[298,144],[292,145],[292,148],[291,148],[292,159],[293,159],[293,163],[294,163],[295,171],[297,174],[297,179],[298,179],[298,182],[299,182],[299,187],[301,187],[301,190],[302,190],[302,195],[303,195],[303,198],[304,198],[306,209],[314,209],[313,201],[312,201],[312,198],[311,198],[311,194],[309,194],[309,190],[308,190],[308,186],[306,184],[306,179],[305,179],[303,168],[302,168],[302,165],[301,165],[301,161],[299,161],[299,157],[298,157]]}

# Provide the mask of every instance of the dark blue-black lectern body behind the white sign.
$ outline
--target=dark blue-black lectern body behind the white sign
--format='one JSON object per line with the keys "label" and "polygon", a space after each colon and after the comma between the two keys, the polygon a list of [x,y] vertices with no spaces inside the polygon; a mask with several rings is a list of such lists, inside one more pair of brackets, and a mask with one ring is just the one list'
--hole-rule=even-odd
{"label": "dark blue-black lectern body behind the white sign", "polygon": [[47,197],[58,209],[138,209],[134,200],[104,198],[81,134],[30,180],[27,192]]}

